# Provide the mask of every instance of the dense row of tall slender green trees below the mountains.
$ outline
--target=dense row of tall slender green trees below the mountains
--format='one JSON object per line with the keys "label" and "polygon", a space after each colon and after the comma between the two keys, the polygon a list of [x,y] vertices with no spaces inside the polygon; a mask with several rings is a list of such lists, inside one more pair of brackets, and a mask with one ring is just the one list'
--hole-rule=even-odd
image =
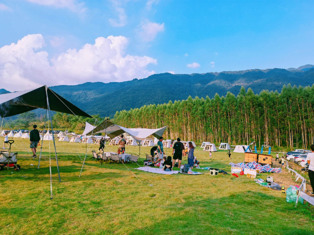
{"label": "dense row of tall slender green trees below the mountains", "polygon": [[314,142],[314,85],[283,86],[281,93],[242,87],[237,96],[228,92],[210,99],[186,100],[117,112],[122,126],[168,126],[165,138],[244,144],[256,141],[272,146],[306,148]]}

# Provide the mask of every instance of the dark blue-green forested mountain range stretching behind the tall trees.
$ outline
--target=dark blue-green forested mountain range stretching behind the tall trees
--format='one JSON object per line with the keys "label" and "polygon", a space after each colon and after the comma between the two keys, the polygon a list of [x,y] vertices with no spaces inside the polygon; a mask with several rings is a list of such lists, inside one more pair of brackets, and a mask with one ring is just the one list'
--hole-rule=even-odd
{"label": "dark blue-green forested mountain range stretching behind the tall trees", "polygon": [[[148,104],[162,104],[175,100],[238,94],[241,86],[262,90],[281,91],[283,85],[311,86],[314,83],[314,65],[297,69],[252,69],[233,72],[193,74],[154,74],[126,82],[88,82],[79,85],[60,85],[52,90],[68,99],[87,113],[113,117],[116,111],[140,108]],[[6,90],[1,89],[0,92]]]}

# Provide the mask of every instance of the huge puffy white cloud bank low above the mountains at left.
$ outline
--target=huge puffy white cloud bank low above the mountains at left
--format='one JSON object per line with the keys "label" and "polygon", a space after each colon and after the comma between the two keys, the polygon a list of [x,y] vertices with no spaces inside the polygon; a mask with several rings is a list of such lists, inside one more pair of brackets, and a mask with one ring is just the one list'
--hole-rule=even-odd
{"label": "huge puffy white cloud bank low above the mountains at left", "polygon": [[122,82],[155,73],[148,56],[125,55],[128,45],[123,36],[99,37],[95,44],[80,50],[68,49],[49,59],[41,34],[27,35],[17,43],[0,48],[0,87],[25,90],[43,84],[79,84],[84,82]]}

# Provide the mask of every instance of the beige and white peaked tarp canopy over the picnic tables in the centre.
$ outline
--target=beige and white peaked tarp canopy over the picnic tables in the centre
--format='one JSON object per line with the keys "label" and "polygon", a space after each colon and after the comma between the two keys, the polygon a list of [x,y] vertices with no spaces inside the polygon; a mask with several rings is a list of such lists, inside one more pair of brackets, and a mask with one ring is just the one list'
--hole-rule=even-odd
{"label": "beige and white peaked tarp canopy over the picnic tables in the centre", "polygon": [[118,135],[121,135],[123,133],[127,133],[130,135],[133,139],[140,142],[147,138],[150,135],[155,136],[156,138],[159,138],[164,133],[167,126],[157,128],[157,129],[147,129],[147,128],[126,128],[123,126],[119,126],[114,124],[109,119],[104,120],[100,125],[97,127],[94,127],[93,125],[86,125],[85,130],[82,135],[88,135],[92,132],[97,133],[105,133],[110,138],[114,138]]}

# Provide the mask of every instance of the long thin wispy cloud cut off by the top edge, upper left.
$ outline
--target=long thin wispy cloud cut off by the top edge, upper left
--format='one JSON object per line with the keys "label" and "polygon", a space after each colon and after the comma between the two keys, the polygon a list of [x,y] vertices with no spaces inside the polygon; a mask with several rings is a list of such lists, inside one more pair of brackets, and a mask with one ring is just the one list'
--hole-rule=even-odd
{"label": "long thin wispy cloud cut off by the top edge, upper left", "polygon": [[84,13],[85,3],[78,3],[76,0],[25,0],[30,3],[37,3],[44,6],[53,6],[56,8],[68,8],[69,10],[76,13]]}

